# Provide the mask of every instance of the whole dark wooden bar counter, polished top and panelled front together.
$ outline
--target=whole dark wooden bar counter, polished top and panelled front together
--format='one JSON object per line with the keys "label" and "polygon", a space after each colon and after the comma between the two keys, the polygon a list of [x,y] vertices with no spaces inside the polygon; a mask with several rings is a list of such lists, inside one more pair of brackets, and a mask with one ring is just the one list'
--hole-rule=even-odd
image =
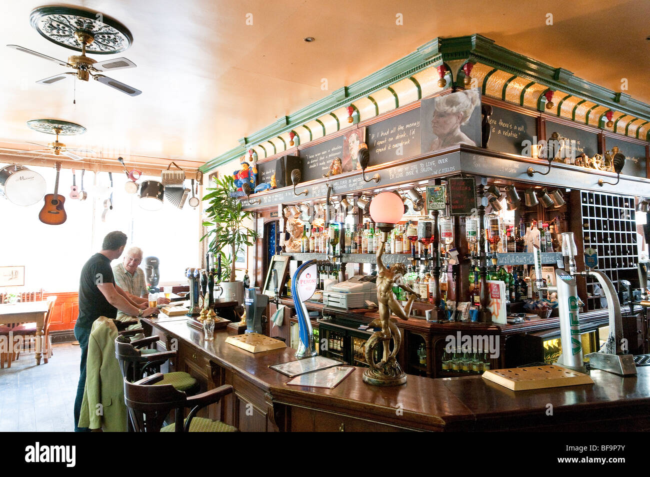
{"label": "whole dark wooden bar counter, polished top and panelled front together", "polygon": [[189,327],[185,316],[144,318],[161,349],[177,349],[172,368],[203,387],[233,385],[211,409],[242,431],[642,431],[650,430],[650,367],[621,377],[592,370],[593,385],[513,392],[478,376],[408,376],[406,385],[374,387],[356,368],[334,389],[287,386],[269,365],[295,361],[294,349],[248,353]]}

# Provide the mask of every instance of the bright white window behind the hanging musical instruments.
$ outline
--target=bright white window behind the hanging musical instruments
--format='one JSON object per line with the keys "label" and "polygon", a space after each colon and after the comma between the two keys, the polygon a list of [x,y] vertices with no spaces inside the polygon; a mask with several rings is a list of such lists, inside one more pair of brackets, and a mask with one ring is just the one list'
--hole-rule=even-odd
{"label": "bright white window behind the hanging musical instruments", "polygon": [[[47,193],[53,193],[56,170],[53,167],[27,165],[41,174],[47,182]],[[77,186],[81,185],[77,170]],[[25,290],[44,288],[47,292],[73,292],[79,288],[79,272],[88,258],[101,249],[108,232],[122,230],[129,241],[127,248],[140,247],[144,256],[157,256],[160,260],[160,285],[185,284],[185,269],[196,267],[199,260],[200,210],[192,210],[187,201],[182,210],[165,202],[159,211],[146,211],[138,206],[138,196],[124,189],[127,178],[113,175],[113,209],[106,213],[104,203],[109,174],[97,176],[86,170],[84,187],[88,191],[85,201],[68,197],[72,185],[72,172],[62,169],[59,194],[66,198],[64,207],[68,215],[63,225],[45,225],[38,220],[43,206],[40,201],[29,207],[12,204],[0,198],[0,266],[25,266]],[[160,180],[145,177],[143,180]],[[113,262],[117,264],[118,260]],[[144,266],[142,266],[144,268]]]}

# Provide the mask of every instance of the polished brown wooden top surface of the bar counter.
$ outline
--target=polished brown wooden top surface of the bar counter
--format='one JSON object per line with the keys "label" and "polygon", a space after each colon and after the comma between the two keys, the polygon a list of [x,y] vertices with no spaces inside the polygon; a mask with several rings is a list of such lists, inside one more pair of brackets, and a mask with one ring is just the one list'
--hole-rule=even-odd
{"label": "polished brown wooden top surface of the bar counter", "polygon": [[[177,317],[174,317],[177,318]],[[215,331],[211,342],[184,320],[149,320],[175,338],[185,340],[216,364],[243,377],[270,396],[274,403],[309,409],[337,409],[388,426],[428,430],[497,430],[548,428],[560,424],[584,430],[582,422],[606,420],[621,413],[650,416],[650,367],[638,375],[621,377],[592,370],[593,385],[513,392],[480,376],[430,379],[409,375],[406,385],[374,387],[356,368],[334,389],[286,385],[290,378],[268,366],[296,361],[294,349],[248,353],[226,343],[231,330]],[[623,410],[625,408],[625,410]],[[549,411],[550,409],[550,411]],[[550,413],[550,414],[549,414]],[[582,426],[582,428],[581,428]],[[605,429],[603,429],[605,430]]]}

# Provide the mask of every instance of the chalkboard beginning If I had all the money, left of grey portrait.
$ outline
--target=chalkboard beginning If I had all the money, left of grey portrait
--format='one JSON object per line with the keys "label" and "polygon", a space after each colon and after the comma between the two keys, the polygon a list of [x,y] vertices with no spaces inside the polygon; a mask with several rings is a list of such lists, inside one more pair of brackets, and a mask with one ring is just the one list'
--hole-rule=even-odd
{"label": "chalkboard beginning If I had all the money, left of grey portrait", "polygon": [[369,165],[420,155],[420,109],[411,109],[366,128]]}

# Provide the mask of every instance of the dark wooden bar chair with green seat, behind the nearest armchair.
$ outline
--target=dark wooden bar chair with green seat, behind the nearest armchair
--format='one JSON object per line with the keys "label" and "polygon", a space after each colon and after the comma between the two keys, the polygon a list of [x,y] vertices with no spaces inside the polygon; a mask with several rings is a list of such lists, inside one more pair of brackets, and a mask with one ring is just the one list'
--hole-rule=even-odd
{"label": "dark wooden bar chair with green seat, behind the nearest armchair", "polygon": [[[122,377],[129,382],[142,379],[145,374],[161,374],[160,367],[176,355],[176,351],[158,351],[146,346],[159,340],[159,336],[149,336],[142,340],[130,341],[127,336],[115,338],[115,357],[120,361]],[[159,385],[172,385],[176,390],[194,394],[198,383],[190,374],[182,371],[161,374]]]}

